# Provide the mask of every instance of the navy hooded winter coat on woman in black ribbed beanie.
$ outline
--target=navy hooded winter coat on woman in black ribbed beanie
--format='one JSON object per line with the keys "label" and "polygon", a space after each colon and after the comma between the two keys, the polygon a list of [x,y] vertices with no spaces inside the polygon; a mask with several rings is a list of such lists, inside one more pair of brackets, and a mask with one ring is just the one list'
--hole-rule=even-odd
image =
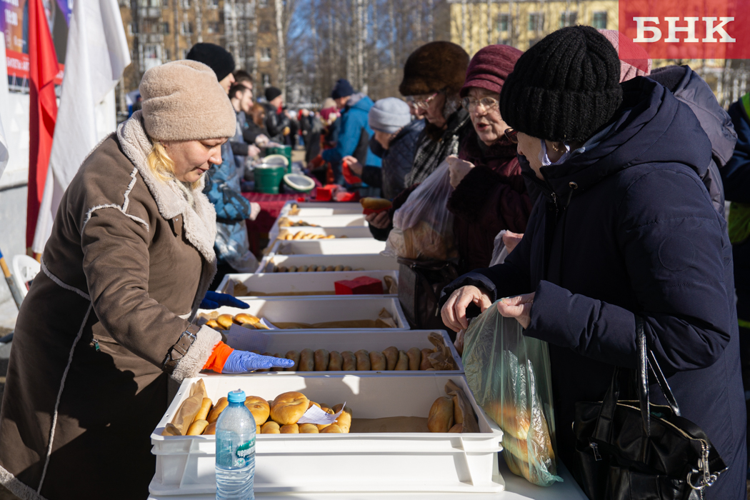
{"label": "navy hooded winter coat on woman in black ribbed beanie", "polygon": [[[637,367],[640,314],[682,416],[729,465],[705,498],[743,499],[732,253],[699,176],[711,143],[691,109],[658,83],[638,77],[622,89],[609,127],[565,163],[541,168],[544,194],[505,263],[464,274],[443,301],[469,284],[493,300],[535,292],[524,334],[549,343],[557,448],[570,469],[574,404],[600,401],[614,366]],[[651,394],[665,404],[658,385]]]}

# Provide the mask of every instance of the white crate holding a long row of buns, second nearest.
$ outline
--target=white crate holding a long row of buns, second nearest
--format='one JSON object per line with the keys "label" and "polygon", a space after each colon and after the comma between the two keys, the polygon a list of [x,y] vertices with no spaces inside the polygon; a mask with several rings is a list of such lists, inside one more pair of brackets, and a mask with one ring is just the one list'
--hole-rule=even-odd
{"label": "white crate holding a long row of buns, second nearest", "polygon": [[[451,351],[453,359],[456,362],[456,370],[439,370],[434,372],[428,372],[425,370],[414,370],[399,372],[404,375],[431,375],[433,373],[439,373],[444,375],[454,375],[456,373],[463,373],[463,364],[461,364],[461,357],[456,352],[455,347],[445,330],[393,330],[391,328],[382,328],[379,331],[368,331],[367,334],[363,335],[362,330],[264,330],[263,334],[268,334],[269,345],[266,347],[266,352],[278,353],[284,356],[290,351],[302,351],[302,349],[326,349],[326,351],[351,351],[357,352],[359,349],[365,349],[366,351],[380,351],[387,349],[390,346],[395,346],[401,351],[408,351],[412,347],[419,347],[419,349],[433,349],[434,346],[428,340],[428,335],[431,332],[437,332],[443,337],[443,342]],[[251,331],[253,333],[257,332]],[[320,372],[257,372],[248,373],[253,376],[275,376],[283,374],[287,375],[301,375],[304,373],[320,373]],[[345,373],[345,372],[326,372],[326,373]],[[384,373],[392,374],[393,371],[354,371],[346,373]],[[214,377],[220,376],[214,373],[207,373],[205,376]]]}

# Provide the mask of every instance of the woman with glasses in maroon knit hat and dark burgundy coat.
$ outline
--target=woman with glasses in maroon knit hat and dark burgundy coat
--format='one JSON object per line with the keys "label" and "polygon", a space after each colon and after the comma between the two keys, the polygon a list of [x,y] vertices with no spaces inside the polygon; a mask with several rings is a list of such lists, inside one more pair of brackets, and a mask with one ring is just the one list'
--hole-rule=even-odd
{"label": "woman with glasses in maroon knit hat and dark burgundy coat", "polygon": [[448,209],[455,215],[460,273],[490,265],[495,235],[503,229],[526,231],[532,203],[515,145],[505,137],[508,124],[502,121],[497,101],[502,83],[522,53],[507,45],[484,47],[469,62],[460,91],[473,125],[458,158],[449,157],[455,191]]}

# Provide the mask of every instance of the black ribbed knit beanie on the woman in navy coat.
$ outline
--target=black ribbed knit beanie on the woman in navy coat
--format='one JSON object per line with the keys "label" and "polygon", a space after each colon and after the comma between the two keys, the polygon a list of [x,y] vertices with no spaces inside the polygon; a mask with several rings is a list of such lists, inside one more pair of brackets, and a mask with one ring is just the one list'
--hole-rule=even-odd
{"label": "black ribbed knit beanie on the woman in navy coat", "polygon": [[562,28],[526,50],[500,92],[500,115],[519,132],[585,141],[622,103],[619,58],[590,26]]}

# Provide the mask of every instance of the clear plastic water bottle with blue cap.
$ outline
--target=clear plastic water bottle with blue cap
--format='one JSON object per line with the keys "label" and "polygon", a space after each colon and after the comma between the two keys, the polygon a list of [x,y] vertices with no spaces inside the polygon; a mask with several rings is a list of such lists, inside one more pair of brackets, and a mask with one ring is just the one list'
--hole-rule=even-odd
{"label": "clear plastic water bottle with blue cap", "polygon": [[245,392],[237,389],[226,397],[216,421],[216,498],[254,500],[255,419],[245,407]]}

